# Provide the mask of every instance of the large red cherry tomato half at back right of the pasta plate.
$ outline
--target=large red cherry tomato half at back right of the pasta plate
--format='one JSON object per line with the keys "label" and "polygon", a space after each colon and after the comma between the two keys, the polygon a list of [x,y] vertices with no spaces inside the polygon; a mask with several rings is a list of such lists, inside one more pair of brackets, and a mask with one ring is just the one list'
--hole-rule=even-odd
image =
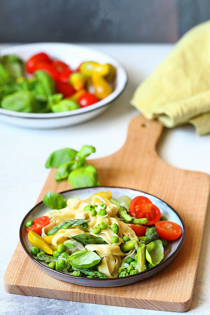
{"label": "large red cherry tomato half at back right of the pasta plate", "polygon": [[160,220],[160,210],[143,196],[138,196],[131,201],[129,213],[137,219],[147,218],[146,225],[152,225]]}

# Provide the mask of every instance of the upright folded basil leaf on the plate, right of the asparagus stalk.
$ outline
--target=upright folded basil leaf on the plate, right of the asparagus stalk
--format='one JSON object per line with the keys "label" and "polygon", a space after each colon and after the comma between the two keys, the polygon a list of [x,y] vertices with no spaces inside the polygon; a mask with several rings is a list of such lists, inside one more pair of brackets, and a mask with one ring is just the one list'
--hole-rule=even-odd
{"label": "upright folded basil leaf on the plate, right of the asparagus stalk", "polygon": [[160,239],[157,239],[147,245],[146,260],[149,261],[152,266],[156,266],[163,260],[163,252],[163,243]]}

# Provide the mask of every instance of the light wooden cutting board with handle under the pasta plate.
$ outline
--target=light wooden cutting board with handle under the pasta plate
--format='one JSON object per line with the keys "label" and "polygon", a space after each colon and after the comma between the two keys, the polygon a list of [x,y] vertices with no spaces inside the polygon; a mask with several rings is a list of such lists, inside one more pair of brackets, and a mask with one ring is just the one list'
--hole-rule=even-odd
{"label": "light wooden cutting board with handle under the pasta plate", "polygon": [[[114,288],[84,287],[57,280],[40,270],[19,242],[4,277],[7,292],[154,310],[184,312],[189,309],[208,207],[210,177],[176,169],[161,160],[155,150],[161,132],[159,123],[137,116],[129,125],[125,145],[113,155],[90,163],[98,170],[101,185],[148,192],[178,211],[186,226],[186,239],[172,263],[135,284]],[[61,192],[71,188],[67,181],[56,183],[54,174],[55,170],[51,170],[37,202],[48,191]]]}

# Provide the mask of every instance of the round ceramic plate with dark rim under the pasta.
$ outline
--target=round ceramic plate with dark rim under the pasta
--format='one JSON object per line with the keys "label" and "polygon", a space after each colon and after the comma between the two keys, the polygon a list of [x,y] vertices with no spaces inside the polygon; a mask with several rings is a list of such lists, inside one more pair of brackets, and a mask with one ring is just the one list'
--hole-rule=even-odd
{"label": "round ceramic plate with dark rim under the pasta", "polygon": [[125,285],[125,284],[131,284],[131,283],[143,280],[145,278],[148,278],[154,275],[155,273],[160,272],[163,268],[165,268],[169,263],[172,262],[172,260],[177,255],[178,251],[180,250],[184,242],[186,230],[185,230],[184,222],[182,218],[180,217],[180,215],[171,206],[165,203],[163,200],[153,195],[150,195],[146,192],[139,191],[139,190],[121,188],[121,187],[108,187],[108,186],[73,189],[73,190],[61,192],[61,194],[65,199],[73,197],[73,198],[79,198],[79,199],[85,200],[91,195],[93,195],[94,193],[103,191],[103,190],[110,190],[112,192],[112,197],[114,199],[117,199],[122,195],[129,196],[131,199],[137,196],[145,196],[149,198],[149,200],[151,200],[151,202],[154,203],[160,209],[161,216],[166,216],[168,221],[175,222],[182,227],[182,232],[183,232],[182,236],[173,242],[169,242],[167,248],[164,249],[163,261],[161,261],[157,266],[153,268],[150,268],[146,271],[140,272],[135,275],[127,276],[124,278],[101,279],[101,278],[74,277],[71,274],[66,274],[64,272],[52,270],[48,267],[47,264],[37,261],[36,258],[31,254],[30,249],[32,248],[32,245],[28,241],[28,237],[27,237],[28,233],[25,230],[25,224],[27,221],[34,220],[35,218],[38,218],[44,215],[44,213],[49,210],[49,208],[46,207],[43,202],[40,202],[26,214],[25,218],[23,219],[20,225],[20,243],[22,244],[26,254],[29,256],[29,258],[33,261],[34,264],[36,264],[40,269],[42,269],[44,272],[48,273],[52,277],[63,280],[63,281],[67,281],[70,283],[85,285],[85,286],[90,286],[90,287],[115,287],[115,286],[120,286],[120,285]]}

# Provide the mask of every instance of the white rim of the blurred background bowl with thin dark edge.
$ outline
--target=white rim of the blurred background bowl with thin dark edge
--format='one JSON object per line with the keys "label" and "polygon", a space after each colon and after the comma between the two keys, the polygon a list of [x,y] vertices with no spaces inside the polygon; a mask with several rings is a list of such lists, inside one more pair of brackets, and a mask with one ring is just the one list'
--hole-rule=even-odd
{"label": "white rim of the blurred background bowl with thin dark edge", "polygon": [[24,112],[15,112],[15,111],[11,111],[8,109],[4,109],[0,107],[0,114],[6,115],[6,116],[13,116],[13,117],[21,117],[21,118],[41,118],[41,119],[46,119],[46,118],[61,118],[61,117],[69,117],[69,116],[76,116],[79,114],[84,114],[87,112],[91,112],[94,111],[98,108],[101,108],[103,106],[108,105],[110,102],[112,102],[113,100],[115,100],[125,89],[125,85],[127,83],[127,72],[125,70],[125,67],[120,63],[120,61],[118,61],[117,59],[115,59],[114,57],[112,57],[109,54],[103,53],[100,49],[95,49],[95,48],[91,48],[89,46],[86,45],[82,45],[82,44],[72,44],[72,43],[53,43],[53,42],[49,42],[49,43],[27,43],[27,44],[20,44],[20,45],[9,45],[7,47],[4,47],[2,49],[0,49],[0,56],[3,54],[8,54],[8,53],[4,53],[4,50],[7,51],[9,49],[9,54],[15,54],[18,53],[18,51],[21,51],[22,49],[27,49],[27,48],[37,48],[37,46],[40,46],[40,49],[42,49],[42,47],[53,47],[54,45],[56,46],[68,46],[68,47],[81,47],[83,49],[88,49],[88,50],[92,50],[95,52],[98,52],[101,56],[104,57],[108,57],[110,59],[112,59],[114,66],[117,67],[117,70],[120,71],[120,77],[121,77],[121,83],[120,85],[118,85],[114,91],[109,94],[107,97],[105,97],[104,99],[98,101],[95,104],[92,104],[90,106],[87,107],[82,107],[79,109],[75,109],[73,111],[67,111],[67,112],[58,112],[58,113],[24,113]]}

